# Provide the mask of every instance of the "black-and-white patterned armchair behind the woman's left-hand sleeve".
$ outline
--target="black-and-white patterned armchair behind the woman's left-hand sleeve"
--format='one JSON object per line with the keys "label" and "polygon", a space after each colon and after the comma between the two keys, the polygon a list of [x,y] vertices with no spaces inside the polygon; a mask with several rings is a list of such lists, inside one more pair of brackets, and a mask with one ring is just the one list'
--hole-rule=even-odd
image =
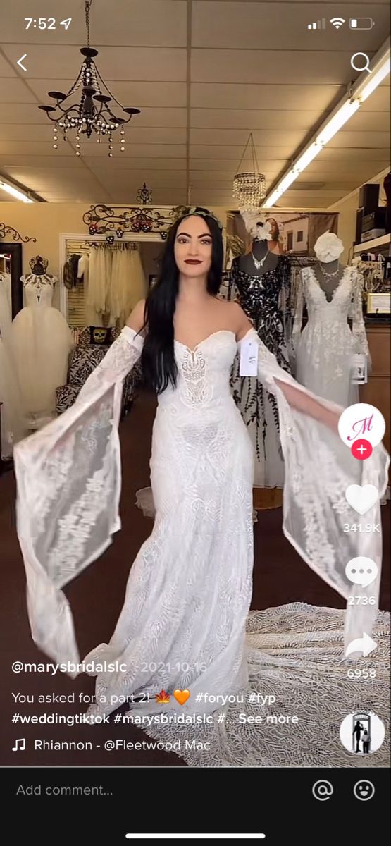
{"label": "black-and-white patterned armchair behind the woman's left-hand sleeve", "polygon": [[[119,329],[112,329],[113,341],[119,335]],[[56,410],[57,414],[69,409],[74,404],[81,387],[88,379],[88,376],[100,364],[109,349],[110,343],[91,343],[90,327],[80,330],[79,341],[69,355],[68,380],[66,385],[56,389]],[[140,365],[136,364],[134,369],[124,379],[124,391],[122,395],[122,413],[129,411],[130,405],[135,398],[136,386],[141,381]]]}

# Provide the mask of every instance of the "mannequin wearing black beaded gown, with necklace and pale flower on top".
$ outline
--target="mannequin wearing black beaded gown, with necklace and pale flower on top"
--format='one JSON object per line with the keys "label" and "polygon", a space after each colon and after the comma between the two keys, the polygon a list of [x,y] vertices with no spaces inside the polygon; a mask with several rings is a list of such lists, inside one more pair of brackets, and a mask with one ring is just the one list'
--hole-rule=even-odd
{"label": "mannequin wearing black beaded gown, with necklace and pale flower on top", "polygon": [[[289,260],[280,255],[277,224],[274,228],[272,225],[275,221],[263,223],[259,212],[256,217],[245,212],[242,216],[252,235],[251,249],[234,259],[230,286],[235,286],[235,298],[250,317],[259,338],[276,356],[280,367],[289,372],[282,307],[289,285]],[[258,489],[282,488],[284,460],[279,442],[275,398],[256,378],[240,376],[239,357],[234,361],[231,387],[235,403],[254,444],[254,486]],[[258,495],[257,500],[262,501]],[[279,501],[277,504],[280,504]]]}

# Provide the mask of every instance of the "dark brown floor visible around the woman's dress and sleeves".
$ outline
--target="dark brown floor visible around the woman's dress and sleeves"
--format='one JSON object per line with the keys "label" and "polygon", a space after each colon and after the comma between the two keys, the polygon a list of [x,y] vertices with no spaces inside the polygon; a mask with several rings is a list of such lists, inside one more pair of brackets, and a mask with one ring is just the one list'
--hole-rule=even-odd
{"label": "dark brown floor visible around the woman's dress and sleeves", "polygon": [[[151,519],[143,517],[135,507],[135,491],[149,485],[151,426],[155,399],[140,394],[128,417],[120,426],[123,460],[123,491],[121,518],[123,528],[113,539],[113,545],[84,574],[69,585],[66,593],[73,609],[80,656],[113,634],[118,613],[124,601],[129,568],[143,541],[151,532]],[[0,558],[2,590],[0,611],[2,620],[3,695],[2,695],[2,753],[3,765],[17,766],[184,766],[173,753],[154,750],[109,753],[103,750],[107,739],[131,741],[147,739],[140,729],[127,725],[12,725],[14,712],[42,714],[45,711],[72,715],[83,713],[87,704],[80,695],[91,695],[94,679],[80,675],[71,679],[63,673],[55,677],[47,674],[11,671],[14,661],[47,662],[30,637],[25,605],[25,572],[15,533],[15,485],[13,472],[0,476]],[[387,566],[383,569],[381,607],[389,610],[389,503],[382,508],[384,549]],[[324,584],[297,555],[285,540],[281,530],[281,509],[258,513],[255,525],[254,591],[251,607],[267,608],[285,602],[310,602],[319,606],[344,607],[344,601]],[[32,704],[17,706],[12,694],[34,695]],[[39,694],[72,695],[74,704],[38,705]],[[24,752],[13,752],[16,738],[26,739]],[[90,751],[35,751],[34,739],[59,741],[91,740]],[[96,748],[99,744],[100,748]]]}

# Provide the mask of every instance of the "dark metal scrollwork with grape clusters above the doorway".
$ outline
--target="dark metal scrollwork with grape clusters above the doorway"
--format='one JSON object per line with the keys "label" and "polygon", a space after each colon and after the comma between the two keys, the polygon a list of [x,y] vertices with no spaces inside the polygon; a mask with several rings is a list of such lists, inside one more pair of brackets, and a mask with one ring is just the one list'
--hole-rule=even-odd
{"label": "dark metal scrollwork with grape clusters above the doorway", "polygon": [[101,203],[85,211],[83,221],[90,235],[113,233],[123,238],[124,233],[157,233],[162,241],[173,225],[175,209],[146,206],[104,206]]}

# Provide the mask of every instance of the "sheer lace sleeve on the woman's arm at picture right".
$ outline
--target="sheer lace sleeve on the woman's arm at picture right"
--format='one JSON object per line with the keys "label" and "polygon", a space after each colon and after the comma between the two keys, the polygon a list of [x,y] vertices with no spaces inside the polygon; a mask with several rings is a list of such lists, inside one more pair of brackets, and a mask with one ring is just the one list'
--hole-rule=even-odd
{"label": "sheer lace sleeve on the woman's arm at picture right", "polygon": [[[366,556],[377,563],[376,580],[360,588],[360,594],[367,597],[366,605],[347,606],[347,645],[362,638],[364,631],[371,634],[378,607],[382,541],[378,533],[365,533],[366,523],[381,523],[379,501],[360,517],[350,507],[345,492],[350,485],[370,484],[377,487],[380,500],[388,482],[388,454],[379,444],[370,459],[353,458],[335,431],[342,409],[295,382],[278,366],[254,330],[245,338],[258,344],[258,378],[278,402],[285,462],[285,536],[304,561],[345,599],[355,594],[355,585],[345,574],[350,559]],[[348,523],[360,523],[361,530],[344,531]]]}

